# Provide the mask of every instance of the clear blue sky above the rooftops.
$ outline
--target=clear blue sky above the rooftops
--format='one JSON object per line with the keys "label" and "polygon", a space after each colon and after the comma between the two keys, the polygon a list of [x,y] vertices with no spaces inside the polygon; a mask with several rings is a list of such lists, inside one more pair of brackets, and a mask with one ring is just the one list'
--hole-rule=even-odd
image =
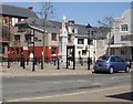
{"label": "clear blue sky above the rooftops", "polygon": [[[33,7],[34,12],[39,12],[39,2],[6,2],[18,7]],[[51,20],[61,21],[66,17],[66,21],[74,20],[79,24],[90,23],[99,27],[98,21],[106,17],[122,17],[125,10],[131,9],[130,2],[53,2],[55,11]]]}

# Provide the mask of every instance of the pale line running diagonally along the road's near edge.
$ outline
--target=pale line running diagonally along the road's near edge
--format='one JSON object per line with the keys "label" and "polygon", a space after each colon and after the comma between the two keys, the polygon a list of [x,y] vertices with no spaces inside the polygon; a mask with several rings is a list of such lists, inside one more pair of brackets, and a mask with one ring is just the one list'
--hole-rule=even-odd
{"label": "pale line running diagonally along the road's near edge", "polygon": [[88,92],[85,91],[85,92],[69,93],[69,94],[60,94],[60,95],[51,95],[51,96],[18,98],[18,100],[10,100],[10,101],[7,101],[7,102],[20,102],[20,101],[32,101],[32,100],[40,100],[40,98],[51,98],[51,97],[71,96],[71,95],[78,95],[78,94],[95,93],[95,92],[102,92],[102,91],[116,90],[116,89],[120,89],[120,87],[125,87],[125,86],[114,86],[114,87],[110,87],[110,89],[100,89],[100,90],[88,91]]}

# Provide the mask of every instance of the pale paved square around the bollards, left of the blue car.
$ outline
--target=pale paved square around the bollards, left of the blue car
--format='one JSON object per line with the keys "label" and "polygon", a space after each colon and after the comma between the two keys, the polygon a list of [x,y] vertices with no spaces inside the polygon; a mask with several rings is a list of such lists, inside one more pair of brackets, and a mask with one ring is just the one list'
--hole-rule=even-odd
{"label": "pale paved square around the bollards, left of the blue car", "polygon": [[44,63],[44,69],[41,70],[41,65],[35,65],[35,71],[32,71],[32,64],[27,65],[25,69],[20,66],[20,63],[12,63],[10,69],[7,67],[7,63],[0,65],[0,75],[2,76],[50,76],[50,75],[80,75],[80,74],[92,74],[91,70],[86,69],[86,64],[76,65],[73,70],[72,64],[69,69],[65,65],[61,65],[58,70],[58,65]]}

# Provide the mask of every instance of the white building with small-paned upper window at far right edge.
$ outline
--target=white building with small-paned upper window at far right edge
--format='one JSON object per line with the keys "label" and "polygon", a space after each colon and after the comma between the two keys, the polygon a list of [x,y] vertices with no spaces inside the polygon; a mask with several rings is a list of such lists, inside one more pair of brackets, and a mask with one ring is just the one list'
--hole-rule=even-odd
{"label": "white building with small-paned upper window at far right edge", "polygon": [[133,10],[125,10],[122,17],[114,18],[111,54],[133,61]]}

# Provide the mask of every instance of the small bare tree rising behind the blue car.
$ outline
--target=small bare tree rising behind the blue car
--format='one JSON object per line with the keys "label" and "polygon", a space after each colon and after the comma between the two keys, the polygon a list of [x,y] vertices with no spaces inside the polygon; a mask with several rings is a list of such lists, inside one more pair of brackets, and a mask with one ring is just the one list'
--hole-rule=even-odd
{"label": "small bare tree rising behind the blue car", "polygon": [[108,54],[109,55],[111,54],[111,31],[115,22],[116,21],[112,17],[106,17],[102,21],[99,21],[102,29],[104,29],[109,33],[109,39],[108,39]]}

